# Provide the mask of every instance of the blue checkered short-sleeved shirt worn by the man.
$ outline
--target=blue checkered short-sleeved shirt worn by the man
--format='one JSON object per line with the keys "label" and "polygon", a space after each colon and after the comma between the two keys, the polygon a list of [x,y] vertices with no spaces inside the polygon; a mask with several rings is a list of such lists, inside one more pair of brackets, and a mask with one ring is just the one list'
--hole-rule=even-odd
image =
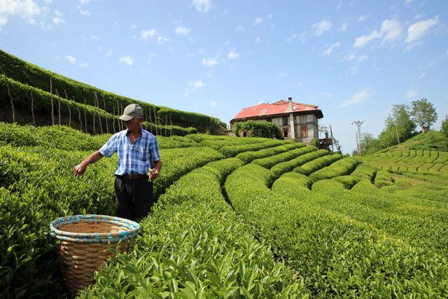
{"label": "blue checkered short-sleeved shirt worn by the man", "polygon": [[111,139],[99,149],[106,158],[118,154],[115,174],[147,174],[154,162],[160,160],[160,147],[157,139],[150,132],[141,129],[141,136],[134,144],[127,137],[127,130],[113,134]]}

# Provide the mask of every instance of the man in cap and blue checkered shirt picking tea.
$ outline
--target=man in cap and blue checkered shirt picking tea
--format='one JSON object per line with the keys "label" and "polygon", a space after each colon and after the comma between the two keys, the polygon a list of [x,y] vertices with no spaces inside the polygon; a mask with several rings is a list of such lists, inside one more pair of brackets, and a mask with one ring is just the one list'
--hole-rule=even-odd
{"label": "man in cap and blue checkered shirt picking tea", "polygon": [[[139,221],[148,215],[153,200],[153,179],[162,168],[157,139],[141,128],[143,110],[138,104],[126,106],[123,120],[127,130],[113,134],[111,139],[73,168],[73,174],[82,176],[87,166],[105,156],[118,154],[115,172],[115,193],[118,217]],[[151,170],[152,169],[152,170]],[[148,177],[148,172],[150,172]],[[148,179],[151,179],[148,180]]]}

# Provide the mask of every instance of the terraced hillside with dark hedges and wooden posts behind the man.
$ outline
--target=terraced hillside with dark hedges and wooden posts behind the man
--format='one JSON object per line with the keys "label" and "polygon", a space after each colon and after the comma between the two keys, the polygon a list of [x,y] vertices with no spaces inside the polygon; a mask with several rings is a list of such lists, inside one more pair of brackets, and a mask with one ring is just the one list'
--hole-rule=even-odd
{"label": "terraced hillside with dark hedges and wooden posts behind the man", "polygon": [[[85,83],[74,81],[51,71],[20,60],[0,50],[0,67],[5,72],[11,85],[11,95],[15,100],[18,123],[31,123],[31,95],[34,97],[34,111],[36,125],[52,125],[50,111],[50,97],[54,97],[55,114],[58,111],[57,99],[62,102],[63,124],[69,124],[69,115],[73,113],[73,127],[81,127],[77,115],[78,106],[87,111],[97,110],[109,117],[119,115],[123,107],[138,103],[144,108],[146,120],[153,125],[174,125],[175,127],[194,127],[197,132],[217,134],[226,127],[218,118],[201,113],[179,111],[165,106],[156,106],[146,102],[115,95],[111,92],[94,88]],[[51,87],[50,87],[51,78]],[[50,93],[51,92],[51,93]],[[57,96],[59,94],[59,97]],[[95,96],[96,95],[96,96]],[[10,98],[6,90],[6,83],[1,74],[0,103],[8,109],[2,109],[0,120],[12,122]],[[71,107],[71,108],[66,108]],[[90,120],[90,118],[88,118]],[[70,123],[71,123],[70,122]],[[103,120],[104,122],[104,120]],[[56,123],[57,120],[56,120]],[[88,123],[88,132],[96,133],[92,129],[93,123]],[[98,125],[98,124],[97,124]],[[104,124],[105,125],[105,124]],[[106,126],[106,125],[105,125]],[[191,131],[190,131],[191,132]],[[188,132],[186,133],[188,134]]]}

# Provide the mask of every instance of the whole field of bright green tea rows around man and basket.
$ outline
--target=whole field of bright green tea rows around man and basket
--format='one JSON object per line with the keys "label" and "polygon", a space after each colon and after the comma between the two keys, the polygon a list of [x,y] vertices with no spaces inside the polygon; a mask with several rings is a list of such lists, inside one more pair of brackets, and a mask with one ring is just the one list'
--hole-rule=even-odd
{"label": "whole field of bright green tea rows around man and basket", "polygon": [[[71,174],[110,136],[0,123],[1,298],[66,295],[48,223],[115,214],[116,156]],[[446,152],[158,139],[158,201],[80,297],[448,297]]]}

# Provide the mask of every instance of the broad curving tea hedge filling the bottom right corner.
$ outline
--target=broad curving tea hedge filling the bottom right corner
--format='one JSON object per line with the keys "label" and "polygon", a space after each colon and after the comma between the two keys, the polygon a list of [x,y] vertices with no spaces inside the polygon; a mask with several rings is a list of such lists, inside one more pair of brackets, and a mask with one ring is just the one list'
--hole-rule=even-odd
{"label": "broad curving tea hedge filling the bottom right corner", "polygon": [[265,168],[246,165],[228,176],[225,190],[253,235],[269,243],[276,256],[300,272],[314,296],[444,297],[446,258],[316,204],[325,200],[344,209],[350,198],[335,204],[334,195],[276,193],[268,188],[274,177]]}

